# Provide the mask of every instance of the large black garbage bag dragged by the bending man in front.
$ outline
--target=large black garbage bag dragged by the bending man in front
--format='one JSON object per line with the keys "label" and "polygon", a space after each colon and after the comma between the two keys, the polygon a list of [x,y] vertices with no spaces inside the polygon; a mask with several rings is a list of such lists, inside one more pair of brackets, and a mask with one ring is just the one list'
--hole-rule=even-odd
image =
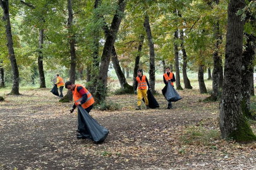
{"label": "large black garbage bag dragged by the bending man in front", "polygon": [[99,123],[87,113],[82,107],[78,106],[78,133],[84,138],[93,140],[94,142],[103,142],[109,131],[99,125]]}

